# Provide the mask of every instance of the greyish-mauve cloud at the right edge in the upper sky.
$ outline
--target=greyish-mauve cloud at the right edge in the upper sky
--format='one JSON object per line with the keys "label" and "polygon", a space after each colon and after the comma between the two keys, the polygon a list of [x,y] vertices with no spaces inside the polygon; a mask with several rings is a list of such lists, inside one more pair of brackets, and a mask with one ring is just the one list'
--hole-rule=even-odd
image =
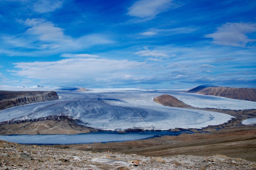
{"label": "greyish-mauve cloud at the right edge in the upper sky", "polygon": [[215,44],[246,47],[248,43],[256,41],[246,34],[256,32],[255,23],[226,23],[217,28],[217,31],[206,34],[206,38],[212,38]]}

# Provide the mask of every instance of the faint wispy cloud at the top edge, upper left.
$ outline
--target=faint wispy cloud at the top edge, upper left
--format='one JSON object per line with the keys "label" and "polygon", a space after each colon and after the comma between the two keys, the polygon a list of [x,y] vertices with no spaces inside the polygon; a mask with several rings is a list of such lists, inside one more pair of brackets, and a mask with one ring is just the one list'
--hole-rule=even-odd
{"label": "faint wispy cloud at the top edge, upper left", "polygon": [[33,10],[37,13],[48,13],[62,7],[59,0],[40,0],[33,4]]}

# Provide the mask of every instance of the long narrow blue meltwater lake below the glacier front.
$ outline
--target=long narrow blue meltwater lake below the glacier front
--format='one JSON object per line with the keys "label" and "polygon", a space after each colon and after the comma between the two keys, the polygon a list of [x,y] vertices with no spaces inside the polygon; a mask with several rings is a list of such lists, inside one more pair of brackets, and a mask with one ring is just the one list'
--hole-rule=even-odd
{"label": "long narrow blue meltwater lake below the glacier front", "polygon": [[181,131],[126,131],[119,133],[116,131],[98,131],[76,135],[3,135],[0,140],[15,142],[20,144],[78,144],[93,142],[120,142],[128,140],[148,139],[164,135],[177,136],[182,133],[194,133],[188,130]]}

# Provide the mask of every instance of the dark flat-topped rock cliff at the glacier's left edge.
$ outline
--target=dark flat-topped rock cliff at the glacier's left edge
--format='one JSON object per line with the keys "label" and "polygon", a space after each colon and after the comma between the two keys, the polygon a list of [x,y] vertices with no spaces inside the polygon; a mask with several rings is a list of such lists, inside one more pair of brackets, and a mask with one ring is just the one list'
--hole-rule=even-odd
{"label": "dark flat-topped rock cliff at the glacier's left edge", "polygon": [[0,91],[0,110],[59,99],[56,91]]}

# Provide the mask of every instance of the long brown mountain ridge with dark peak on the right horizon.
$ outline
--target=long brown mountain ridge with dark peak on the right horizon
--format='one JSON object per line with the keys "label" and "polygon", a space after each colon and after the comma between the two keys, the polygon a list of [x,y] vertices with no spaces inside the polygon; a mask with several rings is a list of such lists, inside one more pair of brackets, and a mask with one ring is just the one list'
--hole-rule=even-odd
{"label": "long brown mountain ridge with dark peak on the right horizon", "polygon": [[231,88],[204,84],[188,90],[187,93],[197,93],[256,102],[256,88]]}

